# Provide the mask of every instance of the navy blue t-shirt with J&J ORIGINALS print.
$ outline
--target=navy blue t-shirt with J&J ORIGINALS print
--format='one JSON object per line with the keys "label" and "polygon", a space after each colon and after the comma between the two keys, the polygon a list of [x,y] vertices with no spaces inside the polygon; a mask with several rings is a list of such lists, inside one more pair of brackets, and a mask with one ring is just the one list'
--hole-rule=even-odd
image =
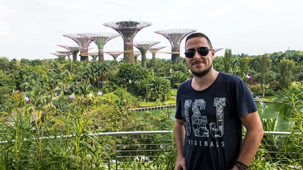
{"label": "navy blue t-shirt with J&J ORIGINALS print", "polygon": [[191,87],[191,80],[177,91],[176,119],[185,127],[184,153],[188,170],[233,168],[242,144],[239,117],[257,111],[255,100],[239,77],[219,72],[205,90]]}

